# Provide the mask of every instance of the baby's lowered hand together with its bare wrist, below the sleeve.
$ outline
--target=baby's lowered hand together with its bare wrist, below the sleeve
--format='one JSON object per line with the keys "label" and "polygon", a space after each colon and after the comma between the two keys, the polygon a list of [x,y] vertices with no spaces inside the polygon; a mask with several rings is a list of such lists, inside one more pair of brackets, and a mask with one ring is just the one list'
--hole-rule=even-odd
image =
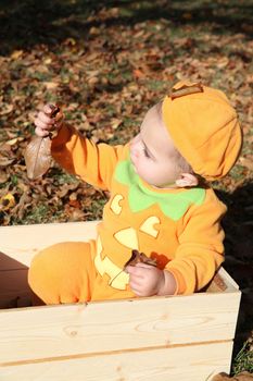
{"label": "baby's lowered hand together with its bare wrist, below the sleeve", "polygon": [[156,267],[137,263],[127,266],[126,271],[130,275],[131,291],[138,296],[172,295],[176,291],[174,275]]}

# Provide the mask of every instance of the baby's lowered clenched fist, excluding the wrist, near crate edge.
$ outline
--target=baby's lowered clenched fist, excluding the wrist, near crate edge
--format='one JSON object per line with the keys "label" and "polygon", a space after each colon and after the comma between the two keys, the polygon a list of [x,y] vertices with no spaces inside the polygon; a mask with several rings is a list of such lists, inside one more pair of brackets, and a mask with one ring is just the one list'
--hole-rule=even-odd
{"label": "baby's lowered clenched fist, excluding the wrist, near crate edge", "polygon": [[127,266],[126,271],[130,275],[131,291],[138,296],[157,295],[164,287],[164,271],[156,267],[140,262],[135,267]]}

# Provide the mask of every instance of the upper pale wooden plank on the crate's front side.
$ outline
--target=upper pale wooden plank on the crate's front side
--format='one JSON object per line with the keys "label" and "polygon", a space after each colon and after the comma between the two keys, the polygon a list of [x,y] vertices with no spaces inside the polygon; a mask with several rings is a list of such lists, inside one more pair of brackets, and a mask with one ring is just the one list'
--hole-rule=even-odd
{"label": "upper pale wooden plank on the crate's front side", "polygon": [[239,299],[200,293],[1,310],[0,362],[232,340]]}

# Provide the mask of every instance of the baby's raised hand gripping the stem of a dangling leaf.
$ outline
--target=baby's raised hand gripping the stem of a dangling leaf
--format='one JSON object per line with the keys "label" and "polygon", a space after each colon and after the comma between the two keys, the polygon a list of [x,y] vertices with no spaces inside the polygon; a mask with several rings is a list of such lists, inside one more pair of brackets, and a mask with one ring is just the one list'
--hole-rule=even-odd
{"label": "baby's raised hand gripping the stem of a dangling leaf", "polygon": [[[53,115],[54,111],[58,111],[56,115]],[[35,133],[38,136],[46,137],[50,133],[58,131],[62,123],[63,114],[60,109],[52,105],[46,105],[35,119]]]}

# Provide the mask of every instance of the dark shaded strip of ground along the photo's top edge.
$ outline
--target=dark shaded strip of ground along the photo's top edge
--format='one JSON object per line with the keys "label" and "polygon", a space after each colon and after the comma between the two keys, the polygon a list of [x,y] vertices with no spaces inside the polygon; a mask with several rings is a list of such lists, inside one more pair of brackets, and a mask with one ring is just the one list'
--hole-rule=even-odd
{"label": "dark shaded strip of ground along the photo's top edge", "polygon": [[[119,13],[98,17],[102,9],[106,12],[117,8]],[[180,29],[187,24],[203,24],[214,34],[243,33],[253,35],[253,2],[235,0],[229,2],[199,1],[91,1],[91,0],[2,0],[0,4],[0,52],[9,54],[15,49],[31,49],[45,44],[56,47],[66,38],[84,41],[92,38],[92,26],[135,25],[148,20],[167,20],[169,26]],[[91,19],[89,19],[91,17]]]}

